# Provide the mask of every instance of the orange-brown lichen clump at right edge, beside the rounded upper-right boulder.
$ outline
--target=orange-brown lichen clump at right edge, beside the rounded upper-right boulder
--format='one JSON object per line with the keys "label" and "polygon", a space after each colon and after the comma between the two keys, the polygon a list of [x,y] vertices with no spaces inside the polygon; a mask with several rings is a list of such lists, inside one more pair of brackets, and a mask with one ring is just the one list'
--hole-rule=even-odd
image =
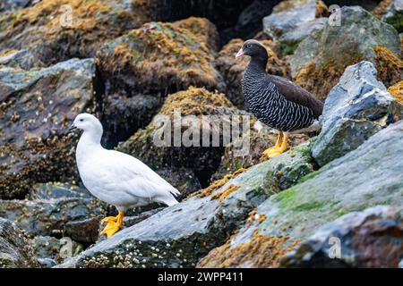
{"label": "orange-brown lichen clump at right edge, beside the rounded upper-right boulder", "polygon": [[378,80],[390,87],[403,80],[403,61],[399,55],[384,46],[373,47]]}

